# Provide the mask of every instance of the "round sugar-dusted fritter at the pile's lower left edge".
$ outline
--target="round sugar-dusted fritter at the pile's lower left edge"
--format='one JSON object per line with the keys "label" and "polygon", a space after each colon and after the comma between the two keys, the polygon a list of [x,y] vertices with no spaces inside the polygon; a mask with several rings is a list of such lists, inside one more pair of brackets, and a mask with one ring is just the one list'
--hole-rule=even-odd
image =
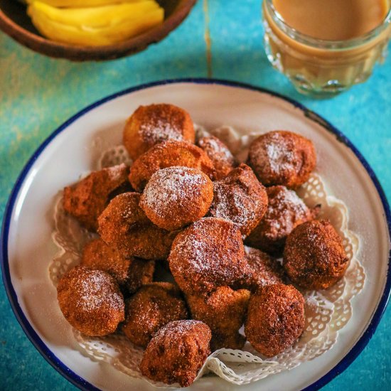
{"label": "round sugar-dusted fritter at the pile's lower left edge", "polygon": [[65,319],[87,336],[114,333],[124,321],[124,298],[119,286],[102,270],[74,267],[58,282],[57,297]]}

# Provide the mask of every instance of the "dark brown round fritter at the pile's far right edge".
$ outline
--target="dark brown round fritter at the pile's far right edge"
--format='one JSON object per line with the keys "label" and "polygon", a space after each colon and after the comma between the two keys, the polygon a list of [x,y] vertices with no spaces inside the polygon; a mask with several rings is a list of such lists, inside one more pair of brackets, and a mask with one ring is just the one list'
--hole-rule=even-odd
{"label": "dark brown round fritter at the pile's far right edge", "polygon": [[286,239],[284,269],[304,289],[327,289],[343,277],[348,257],[341,237],[326,220],[297,226]]}

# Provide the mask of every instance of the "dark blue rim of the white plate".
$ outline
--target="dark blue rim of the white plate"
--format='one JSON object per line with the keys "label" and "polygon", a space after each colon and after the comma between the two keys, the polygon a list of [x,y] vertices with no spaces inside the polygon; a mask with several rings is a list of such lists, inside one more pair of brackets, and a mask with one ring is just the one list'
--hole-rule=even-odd
{"label": "dark blue rim of the white plate", "polygon": [[[88,105],[84,109],[80,110],[80,112],[77,112],[77,114],[73,115],[73,117],[70,117],[66,122],[64,122],[60,127],[55,129],[55,131],[50,134],[45,141],[36,149],[36,151],[33,153],[31,158],[28,160],[26,165],[23,167],[23,170],[21,171],[20,175],[18,176],[16,183],[14,185],[14,188],[11,191],[11,195],[9,197],[8,203],[6,204],[6,209],[4,211],[4,219],[3,224],[1,227],[1,252],[0,252],[0,262],[1,262],[1,272],[3,277],[4,286],[6,289],[6,294],[8,296],[8,299],[11,304],[11,308],[14,311],[14,314],[16,316],[16,319],[20,323],[21,327],[23,328],[23,331],[26,333],[26,336],[28,339],[33,343],[33,346],[36,347],[36,349],[43,355],[43,358],[45,358],[46,361],[50,365],[55,368],[55,370],[58,371],[63,377],[65,377],[67,380],[69,380],[73,385],[79,387],[81,390],[99,390],[99,388],[92,385],[90,382],[87,382],[87,380],[83,379],[79,375],[73,372],[73,370],[70,370],[64,363],[62,363],[50,350],[49,348],[43,343],[42,339],[38,336],[36,331],[34,331],[31,324],[28,322],[26,316],[24,316],[23,311],[21,309],[21,306],[18,304],[18,297],[16,296],[16,292],[14,290],[14,286],[11,282],[11,274],[9,272],[9,258],[8,258],[8,239],[9,239],[9,228],[11,224],[11,215],[14,210],[14,204],[16,202],[16,198],[18,196],[19,190],[21,186],[23,185],[23,181],[26,178],[28,172],[30,171],[31,166],[35,163],[36,159],[38,159],[38,156],[41,155],[41,153],[44,151],[45,147],[50,144],[50,142],[55,139],[55,137],[60,134],[60,132],[63,132],[70,124],[75,122],[78,118],[82,117],[87,112],[90,112],[90,110],[95,109],[95,107],[98,107],[105,102],[109,102],[110,100],[114,100],[117,97],[121,97],[122,95],[127,95],[132,92],[136,92],[139,90],[146,90],[147,88],[161,86],[161,85],[170,85],[170,84],[179,84],[179,83],[194,83],[194,84],[202,84],[202,85],[225,85],[228,87],[237,87],[237,88],[244,88],[245,90],[252,90],[256,92],[266,93],[268,95],[272,95],[274,97],[278,97],[286,102],[289,102],[294,107],[301,109],[304,114],[309,117],[311,120],[318,122],[318,124],[321,124],[322,127],[324,127],[328,132],[331,132],[336,136],[338,141],[345,144],[353,153],[355,156],[359,159],[360,163],[363,164],[365,171],[367,171],[368,175],[370,176],[373,185],[375,186],[377,190],[377,194],[380,197],[380,200],[382,201],[383,210],[385,213],[385,218],[387,220],[387,227],[388,232],[391,237],[391,213],[390,213],[390,205],[387,202],[387,197],[385,195],[385,192],[382,189],[382,186],[380,185],[380,182],[377,179],[377,176],[375,175],[375,172],[368,164],[368,161],[363,157],[363,155],[358,151],[358,149],[353,145],[353,143],[346,137],[341,131],[336,129],[330,122],[326,121],[326,119],[323,119],[320,115],[316,114],[315,112],[311,111],[310,109],[307,109],[304,105],[301,105],[301,103],[296,102],[295,100],[292,100],[289,97],[285,97],[284,95],[281,95],[277,92],[273,92],[271,90],[267,90],[262,87],[256,87],[254,85],[250,85],[243,82],[234,82],[230,80],[223,80],[223,79],[208,79],[203,77],[190,77],[190,78],[179,78],[179,79],[170,79],[170,80],[160,80],[155,82],[148,82],[141,85],[137,85],[136,87],[129,87],[125,90],[116,92],[112,95],[109,95],[107,97],[102,98],[101,100],[97,100],[97,102],[92,103],[91,105]],[[365,348],[365,346],[368,344],[370,339],[372,338],[373,334],[375,333],[375,330],[377,328],[377,325],[380,322],[380,319],[382,318],[382,315],[384,314],[384,311],[387,307],[388,300],[390,299],[390,291],[391,291],[391,250],[388,257],[388,269],[387,269],[387,278],[385,283],[385,288],[382,293],[382,296],[380,298],[379,304],[377,305],[377,308],[375,310],[375,313],[373,314],[373,317],[368,324],[368,327],[365,329],[363,335],[359,338],[359,340],[355,343],[353,348],[333,367],[331,370],[328,371],[325,375],[323,375],[321,378],[316,380],[316,382],[312,383],[308,387],[304,388],[305,391],[309,390],[318,390],[324,385],[326,385],[328,382],[333,380],[334,377],[341,374],[348,366],[353,363],[355,358],[358,357],[358,355],[361,353],[361,351]]]}

